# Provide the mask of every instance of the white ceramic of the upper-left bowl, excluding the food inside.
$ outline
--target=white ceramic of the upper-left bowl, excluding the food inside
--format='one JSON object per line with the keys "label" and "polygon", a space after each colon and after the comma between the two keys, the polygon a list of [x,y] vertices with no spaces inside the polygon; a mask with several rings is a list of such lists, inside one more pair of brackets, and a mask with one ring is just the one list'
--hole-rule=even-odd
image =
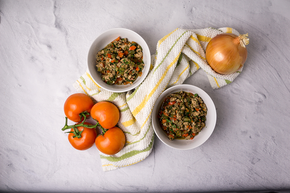
{"label": "white ceramic of the upper-left bowl, excluding the food inside", "polygon": [[[100,50],[104,49],[105,46],[107,46],[109,43],[111,43],[113,40],[115,40],[119,36],[121,38],[127,38],[128,41],[130,42],[134,41],[142,47],[143,62],[145,65],[142,70],[142,75],[138,77],[137,80],[133,82],[133,84],[108,85],[102,80],[101,74],[98,72],[96,68],[96,56]],[[139,84],[141,84],[149,72],[150,63],[151,63],[150,50],[145,40],[136,32],[132,30],[124,29],[124,28],[114,28],[111,30],[107,30],[101,33],[100,35],[98,35],[96,39],[93,41],[91,47],[89,48],[89,53],[88,53],[88,58],[87,58],[88,70],[92,79],[103,89],[111,91],[111,92],[117,92],[117,93],[132,90],[136,88]]]}

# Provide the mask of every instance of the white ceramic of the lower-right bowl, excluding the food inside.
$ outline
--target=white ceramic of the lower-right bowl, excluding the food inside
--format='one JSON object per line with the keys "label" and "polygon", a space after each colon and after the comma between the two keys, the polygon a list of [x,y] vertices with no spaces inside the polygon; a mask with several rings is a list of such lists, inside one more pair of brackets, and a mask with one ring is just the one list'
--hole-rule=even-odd
{"label": "white ceramic of the lower-right bowl, excluding the food inside", "polygon": [[[205,103],[207,107],[205,127],[202,128],[201,131],[198,133],[198,135],[196,135],[192,140],[174,139],[170,141],[167,137],[167,134],[165,134],[165,132],[160,127],[157,115],[159,112],[159,108],[162,106],[163,100],[167,96],[169,96],[169,94],[177,93],[181,90],[193,94],[197,93],[198,96],[200,96],[203,102]],[[203,144],[214,131],[216,121],[217,121],[217,112],[214,106],[214,102],[211,100],[211,97],[208,96],[208,94],[205,91],[201,90],[200,88],[188,84],[180,84],[165,90],[158,97],[152,111],[152,125],[157,137],[169,147],[179,150],[189,150]]]}

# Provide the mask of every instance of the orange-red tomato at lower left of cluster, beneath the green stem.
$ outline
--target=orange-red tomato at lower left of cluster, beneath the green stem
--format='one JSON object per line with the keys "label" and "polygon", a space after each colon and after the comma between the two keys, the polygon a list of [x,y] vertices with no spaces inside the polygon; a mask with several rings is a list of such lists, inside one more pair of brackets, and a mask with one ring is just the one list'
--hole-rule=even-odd
{"label": "orange-red tomato at lower left of cluster, beneath the green stem", "polygon": [[[92,125],[90,123],[84,122],[85,125]],[[81,138],[73,138],[73,133],[69,133],[68,139],[69,143],[72,147],[76,148],[77,150],[87,150],[92,147],[95,143],[97,138],[97,131],[95,128],[84,128],[84,127],[77,127],[79,131],[82,131]],[[73,131],[73,128],[70,130]]]}

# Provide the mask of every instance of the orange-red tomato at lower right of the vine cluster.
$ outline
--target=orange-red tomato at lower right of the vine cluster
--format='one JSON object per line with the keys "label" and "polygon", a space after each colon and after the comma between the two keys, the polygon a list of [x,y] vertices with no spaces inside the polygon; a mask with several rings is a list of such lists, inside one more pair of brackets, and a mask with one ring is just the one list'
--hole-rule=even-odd
{"label": "orange-red tomato at lower right of the vine cluster", "polygon": [[118,127],[108,129],[103,136],[99,135],[95,141],[98,150],[107,155],[118,153],[124,147],[125,143],[125,134]]}

